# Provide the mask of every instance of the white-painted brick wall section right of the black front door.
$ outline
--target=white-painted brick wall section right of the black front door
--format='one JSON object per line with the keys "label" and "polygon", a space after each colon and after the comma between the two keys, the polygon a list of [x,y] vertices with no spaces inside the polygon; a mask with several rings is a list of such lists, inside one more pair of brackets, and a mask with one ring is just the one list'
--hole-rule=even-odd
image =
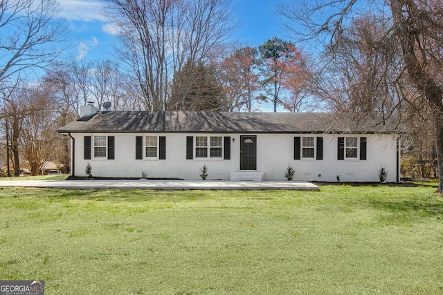
{"label": "white-painted brick wall section right of the black front door", "polygon": [[397,181],[395,136],[362,135],[367,137],[367,160],[359,160],[359,157],[355,160],[337,160],[338,135],[307,135],[323,137],[323,160],[293,160],[294,136],[303,135],[257,137],[257,170],[264,171],[265,180],[284,180],[284,172],[291,164],[296,171],[295,180],[336,182],[337,175],[340,175],[341,182],[378,182],[379,169],[383,166],[388,172],[386,181]]}

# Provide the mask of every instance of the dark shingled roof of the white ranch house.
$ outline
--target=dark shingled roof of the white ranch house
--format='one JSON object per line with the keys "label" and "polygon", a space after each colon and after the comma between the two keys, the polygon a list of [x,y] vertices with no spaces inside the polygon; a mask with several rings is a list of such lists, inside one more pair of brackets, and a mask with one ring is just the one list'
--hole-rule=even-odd
{"label": "dark shingled roof of the white ranch house", "polygon": [[[340,124],[338,124],[340,123]],[[391,130],[392,131],[392,130]],[[83,117],[60,133],[391,133],[374,120],[347,124],[332,113],[112,111]]]}

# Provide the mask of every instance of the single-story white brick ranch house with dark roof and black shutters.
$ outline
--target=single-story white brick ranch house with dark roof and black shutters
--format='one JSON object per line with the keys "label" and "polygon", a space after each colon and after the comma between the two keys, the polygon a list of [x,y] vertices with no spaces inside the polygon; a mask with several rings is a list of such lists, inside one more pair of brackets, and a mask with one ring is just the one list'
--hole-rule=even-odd
{"label": "single-story white brick ranch house with dark roof and black shutters", "polygon": [[[337,128],[331,113],[98,112],[84,106],[60,133],[71,171],[104,178],[399,181],[399,136],[370,124]],[[350,127],[352,126],[352,127]]]}

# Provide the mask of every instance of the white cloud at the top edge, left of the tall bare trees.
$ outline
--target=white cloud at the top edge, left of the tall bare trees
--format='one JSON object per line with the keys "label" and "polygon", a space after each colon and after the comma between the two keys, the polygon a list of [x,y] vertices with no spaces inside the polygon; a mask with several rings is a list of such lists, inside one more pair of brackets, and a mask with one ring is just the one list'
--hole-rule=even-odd
{"label": "white cloud at the top edge, left of the tall bare trees", "polygon": [[105,8],[101,1],[95,0],[58,0],[60,12],[58,17],[72,21],[106,22],[103,14]]}

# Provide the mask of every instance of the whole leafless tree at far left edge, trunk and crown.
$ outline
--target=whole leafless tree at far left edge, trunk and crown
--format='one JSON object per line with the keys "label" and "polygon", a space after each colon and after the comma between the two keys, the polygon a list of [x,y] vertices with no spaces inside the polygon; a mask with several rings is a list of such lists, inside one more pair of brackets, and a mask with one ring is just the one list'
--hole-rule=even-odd
{"label": "whole leafless tree at far left edge, trunk and crown", "polygon": [[66,32],[55,17],[56,0],[0,1],[0,91],[8,149],[19,175],[19,133],[24,112],[17,90],[25,79],[52,64],[63,52]]}

